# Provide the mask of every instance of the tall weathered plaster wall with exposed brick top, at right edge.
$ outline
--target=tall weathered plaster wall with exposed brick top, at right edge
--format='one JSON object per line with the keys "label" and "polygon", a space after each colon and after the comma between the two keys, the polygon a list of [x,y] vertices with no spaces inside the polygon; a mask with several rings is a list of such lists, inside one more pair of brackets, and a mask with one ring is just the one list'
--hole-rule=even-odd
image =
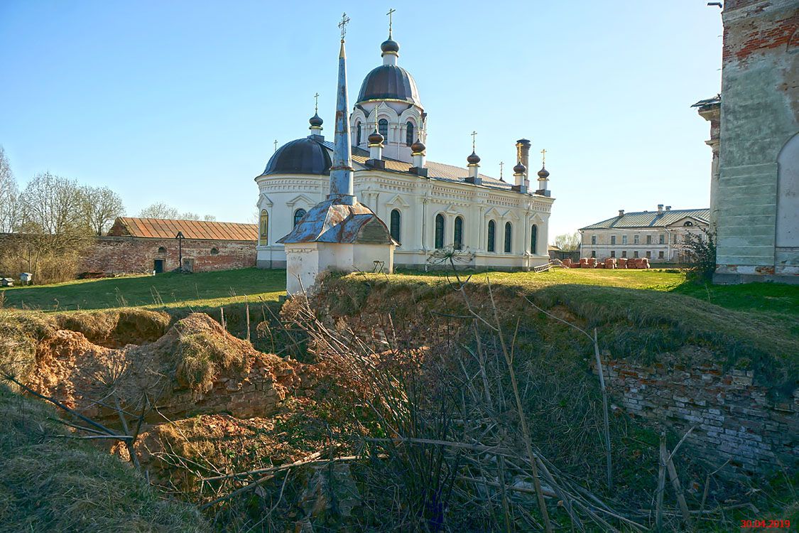
{"label": "tall weathered plaster wall with exposed brick top, at right edge", "polygon": [[776,226],[777,197],[786,193],[778,190],[777,156],[799,131],[799,7],[732,0],[722,17],[716,278],[796,280],[797,267],[777,261]]}

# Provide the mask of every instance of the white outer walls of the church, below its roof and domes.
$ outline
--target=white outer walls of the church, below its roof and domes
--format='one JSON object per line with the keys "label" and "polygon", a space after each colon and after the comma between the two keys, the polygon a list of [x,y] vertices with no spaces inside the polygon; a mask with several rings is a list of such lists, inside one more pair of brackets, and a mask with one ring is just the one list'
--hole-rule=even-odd
{"label": "white outer walls of the church, below its roof and domes", "polygon": [[[259,245],[258,266],[284,268],[282,245],[273,244],[293,227],[293,214],[300,207],[308,210],[324,199],[327,176],[286,176],[260,178],[262,197],[268,197],[270,236],[268,245]],[[424,268],[435,250],[435,216],[445,220],[444,245],[454,242],[455,218],[463,217],[463,248],[475,257],[475,268],[528,269],[548,261],[548,219],[551,198],[531,197],[509,190],[475,187],[467,183],[426,180],[411,175],[378,171],[358,171],[355,193],[386,225],[393,209],[400,211],[400,246],[394,252],[397,266]],[[496,224],[495,251],[488,252],[488,221]],[[511,253],[504,252],[505,223],[512,225]],[[531,226],[539,226],[538,249],[530,250]],[[371,265],[370,260],[370,265]],[[369,270],[373,267],[369,266]]]}

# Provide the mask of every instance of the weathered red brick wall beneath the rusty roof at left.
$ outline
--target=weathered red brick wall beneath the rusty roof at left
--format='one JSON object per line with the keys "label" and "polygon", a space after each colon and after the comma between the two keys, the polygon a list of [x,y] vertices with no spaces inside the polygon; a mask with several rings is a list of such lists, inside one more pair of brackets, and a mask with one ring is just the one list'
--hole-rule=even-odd
{"label": "weathered red brick wall beneath the rusty roof at left", "polygon": [[[254,267],[255,241],[213,241],[184,239],[183,257],[194,260],[194,272]],[[212,249],[218,253],[213,255]],[[159,251],[161,250],[161,251]],[[175,239],[141,237],[97,237],[87,250],[80,272],[150,272],[156,259],[163,259],[169,272],[178,265]]]}

